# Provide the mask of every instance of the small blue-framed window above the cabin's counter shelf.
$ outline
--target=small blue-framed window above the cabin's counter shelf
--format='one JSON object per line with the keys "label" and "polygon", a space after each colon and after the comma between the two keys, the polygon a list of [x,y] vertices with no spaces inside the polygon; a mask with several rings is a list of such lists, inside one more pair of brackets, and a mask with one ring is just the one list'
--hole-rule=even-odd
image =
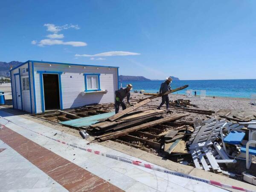
{"label": "small blue-framed window above the cabin's counter shelf", "polygon": [[100,73],[84,73],[84,92],[101,90],[99,76]]}

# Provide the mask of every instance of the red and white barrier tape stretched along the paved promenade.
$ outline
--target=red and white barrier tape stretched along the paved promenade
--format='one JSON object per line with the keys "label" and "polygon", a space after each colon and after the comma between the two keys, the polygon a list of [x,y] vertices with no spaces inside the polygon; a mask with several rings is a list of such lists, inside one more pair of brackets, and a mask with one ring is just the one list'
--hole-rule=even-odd
{"label": "red and white barrier tape stretched along the paved promenade", "polygon": [[[5,118],[3,118],[3,119],[5,119]],[[9,120],[7,120],[7,121],[9,121]],[[12,121],[10,121],[10,122],[12,122]],[[4,125],[0,126],[0,128],[3,128],[3,127],[4,127]],[[22,127],[22,126],[20,126],[20,127]],[[236,190],[245,191],[245,192],[255,192],[253,190],[248,190],[248,189],[244,189],[244,188],[233,186],[233,185],[223,184],[223,183],[220,183],[218,181],[202,179],[202,178],[191,176],[191,175],[187,175],[187,174],[184,174],[184,173],[181,173],[181,172],[171,171],[171,170],[163,169],[163,168],[157,168],[157,167],[154,167],[153,165],[150,165],[150,164],[144,164],[144,163],[142,163],[140,161],[133,161],[133,160],[130,160],[130,159],[119,157],[117,155],[111,155],[111,154],[108,154],[108,153],[102,153],[100,151],[91,150],[91,149],[87,149],[87,148],[84,148],[84,147],[79,147],[78,144],[70,144],[70,143],[67,143],[65,141],[61,141],[61,140],[58,140],[58,139],[46,136],[46,135],[44,135],[42,133],[38,133],[36,131],[30,130],[30,129],[26,128],[26,127],[23,127],[23,128],[26,129],[26,130],[32,131],[34,133],[37,133],[37,134],[39,134],[41,136],[47,137],[49,139],[52,139],[53,141],[59,142],[61,144],[65,144],[65,145],[68,145],[68,146],[71,146],[71,147],[75,147],[77,149],[84,150],[86,152],[91,152],[91,153],[94,153],[96,155],[101,155],[101,156],[104,156],[104,157],[107,157],[107,158],[115,159],[117,161],[122,161],[122,162],[125,162],[125,163],[128,163],[128,164],[133,164],[133,165],[137,165],[137,166],[140,166],[140,167],[145,167],[145,168],[148,168],[148,169],[153,169],[155,171],[160,171],[160,172],[164,172],[164,173],[167,173],[167,174],[170,174],[170,175],[175,175],[175,176],[179,176],[179,177],[183,177],[183,178],[188,178],[188,179],[192,179],[192,180],[195,180],[195,181],[201,181],[203,183],[212,184],[212,185],[215,185],[215,186],[221,186],[221,187],[230,188],[230,189],[236,189]]]}

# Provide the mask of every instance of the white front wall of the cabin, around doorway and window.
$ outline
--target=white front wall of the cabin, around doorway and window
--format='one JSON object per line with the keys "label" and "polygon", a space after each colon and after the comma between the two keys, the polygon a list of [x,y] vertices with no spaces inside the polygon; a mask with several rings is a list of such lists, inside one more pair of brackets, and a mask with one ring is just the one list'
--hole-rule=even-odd
{"label": "white front wall of the cabin, around doorway and window", "polygon": [[[51,65],[51,66],[50,66]],[[70,66],[70,67],[69,67]],[[114,102],[114,92],[118,88],[117,68],[83,67],[34,62],[35,96],[37,113],[41,113],[41,86],[37,71],[61,71],[61,90],[63,109],[80,107],[93,103]],[[84,73],[100,73],[100,88],[108,90],[103,93],[89,93],[82,96],[85,90]],[[32,102],[33,103],[33,102]]]}

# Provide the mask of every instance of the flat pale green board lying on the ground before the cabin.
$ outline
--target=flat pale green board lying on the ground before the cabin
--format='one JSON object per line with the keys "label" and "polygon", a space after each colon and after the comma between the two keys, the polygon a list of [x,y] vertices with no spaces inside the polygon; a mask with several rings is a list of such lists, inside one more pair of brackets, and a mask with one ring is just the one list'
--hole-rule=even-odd
{"label": "flat pale green board lying on the ground before the cabin", "polygon": [[73,127],[88,127],[91,124],[95,124],[99,122],[99,119],[107,119],[111,116],[113,116],[115,112],[108,112],[108,113],[102,113],[95,116],[89,116],[89,117],[83,117],[79,119],[72,119],[69,121],[62,121],[61,124],[70,125]]}

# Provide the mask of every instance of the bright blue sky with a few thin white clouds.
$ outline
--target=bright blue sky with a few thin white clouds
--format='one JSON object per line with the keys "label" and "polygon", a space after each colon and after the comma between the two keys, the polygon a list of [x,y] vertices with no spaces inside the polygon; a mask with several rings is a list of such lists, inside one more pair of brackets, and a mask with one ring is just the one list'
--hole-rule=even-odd
{"label": "bright blue sky with a few thin white clouds", "polygon": [[118,66],[165,79],[256,79],[255,0],[8,0],[0,61]]}

